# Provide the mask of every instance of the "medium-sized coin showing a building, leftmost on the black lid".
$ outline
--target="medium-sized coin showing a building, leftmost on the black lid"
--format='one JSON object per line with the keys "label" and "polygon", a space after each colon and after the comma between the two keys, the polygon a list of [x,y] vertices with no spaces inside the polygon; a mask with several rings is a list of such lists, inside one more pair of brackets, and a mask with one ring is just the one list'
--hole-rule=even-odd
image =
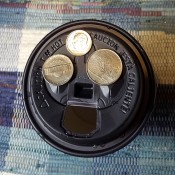
{"label": "medium-sized coin showing a building, leftmost on the black lid", "polygon": [[44,62],[42,73],[48,83],[60,86],[71,79],[73,75],[73,64],[65,55],[53,55]]}

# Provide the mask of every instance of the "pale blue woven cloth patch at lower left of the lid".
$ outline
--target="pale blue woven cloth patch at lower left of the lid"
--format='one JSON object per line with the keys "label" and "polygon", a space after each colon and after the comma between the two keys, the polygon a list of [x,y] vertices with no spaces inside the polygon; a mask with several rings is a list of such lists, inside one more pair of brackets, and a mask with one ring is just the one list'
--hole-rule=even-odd
{"label": "pale blue woven cloth patch at lower left of the lid", "polygon": [[11,128],[10,149],[5,172],[21,175],[45,175],[50,146],[32,129]]}

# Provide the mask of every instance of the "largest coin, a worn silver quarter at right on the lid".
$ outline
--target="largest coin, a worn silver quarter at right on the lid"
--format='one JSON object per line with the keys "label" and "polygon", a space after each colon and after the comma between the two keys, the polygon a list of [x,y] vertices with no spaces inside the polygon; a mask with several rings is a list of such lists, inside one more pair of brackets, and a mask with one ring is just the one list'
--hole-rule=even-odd
{"label": "largest coin, a worn silver quarter at right on the lid", "polygon": [[96,50],[87,61],[89,78],[99,85],[110,85],[122,73],[122,61],[117,53],[109,49]]}

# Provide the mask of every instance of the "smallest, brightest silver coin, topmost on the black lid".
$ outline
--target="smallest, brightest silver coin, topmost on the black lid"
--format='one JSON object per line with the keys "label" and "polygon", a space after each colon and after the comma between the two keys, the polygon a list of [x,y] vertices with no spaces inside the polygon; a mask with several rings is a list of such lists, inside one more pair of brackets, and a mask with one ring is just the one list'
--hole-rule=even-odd
{"label": "smallest, brightest silver coin, topmost on the black lid", "polygon": [[92,47],[92,39],[84,30],[74,30],[66,40],[67,50],[74,56],[85,55]]}

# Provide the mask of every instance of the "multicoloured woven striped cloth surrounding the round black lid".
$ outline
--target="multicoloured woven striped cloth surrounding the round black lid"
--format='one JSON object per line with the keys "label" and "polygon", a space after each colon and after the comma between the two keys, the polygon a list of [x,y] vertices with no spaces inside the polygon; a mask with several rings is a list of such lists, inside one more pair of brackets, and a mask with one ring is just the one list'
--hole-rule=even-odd
{"label": "multicoloured woven striped cloth surrounding the round black lid", "polygon": [[[120,151],[77,158],[45,143],[32,129],[22,100],[22,75],[36,44],[78,19],[99,19],[132,34],[154,67],[153,115]],[[0,0],[0,175],[175,174],[175,0]]]}

